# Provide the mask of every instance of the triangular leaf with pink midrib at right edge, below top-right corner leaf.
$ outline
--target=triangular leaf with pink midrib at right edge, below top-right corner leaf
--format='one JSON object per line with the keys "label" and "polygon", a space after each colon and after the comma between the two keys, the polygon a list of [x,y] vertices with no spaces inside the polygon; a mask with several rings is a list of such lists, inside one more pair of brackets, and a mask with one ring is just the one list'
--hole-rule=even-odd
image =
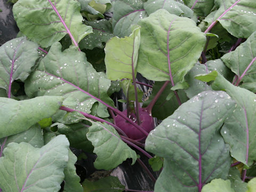
{"label": "triangular leaf with pink midrib at right edge, below top-right corner leaf", "polygon": [[256,31],[235,51],[223,55],[221,60],[238,76],[236,85],[242,81],[243,86],[250,86],[250,91],[256,92]]}

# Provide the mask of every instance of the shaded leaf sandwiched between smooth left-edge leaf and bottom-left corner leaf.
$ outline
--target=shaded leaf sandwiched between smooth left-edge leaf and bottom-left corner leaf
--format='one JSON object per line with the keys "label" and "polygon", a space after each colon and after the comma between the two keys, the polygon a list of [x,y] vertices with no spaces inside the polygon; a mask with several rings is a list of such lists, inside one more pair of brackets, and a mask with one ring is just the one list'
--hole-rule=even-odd
{"label": "shaded leaf sandwiched between smooth left-edge leaf and bottom-left corner leaf", "polygon": [[[27,142],[31,146],[41,148],[44,145],[43,130],[38,124],[31,126],[27,131],[0,139],[0,146],[3,150],[11,142]],[[2,154],[0,154],[1,157]]]}

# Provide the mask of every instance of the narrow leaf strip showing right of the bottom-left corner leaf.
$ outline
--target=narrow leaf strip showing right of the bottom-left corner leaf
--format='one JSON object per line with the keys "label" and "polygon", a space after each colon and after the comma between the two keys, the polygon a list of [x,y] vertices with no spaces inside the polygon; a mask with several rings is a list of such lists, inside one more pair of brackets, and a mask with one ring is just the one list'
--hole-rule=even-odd
{"label": "narrow leaf strip showing right of the bottom-left corner leaf", "polygon": [[68,149],[68,163],[67,166],[64,169],[64,190],[63,192],[83,192],[82,185],[79,183],[80,178],[76,174],[76,167],[75,163],[77,161],[77,158],[75,154],[72,153],[70,149]]}

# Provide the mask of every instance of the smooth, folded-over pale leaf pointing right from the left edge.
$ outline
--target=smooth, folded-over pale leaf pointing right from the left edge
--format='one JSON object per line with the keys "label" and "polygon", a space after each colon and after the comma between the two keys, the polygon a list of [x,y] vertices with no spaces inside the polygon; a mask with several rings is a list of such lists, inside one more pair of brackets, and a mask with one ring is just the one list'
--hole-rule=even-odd
{"label": "smooth, folded-over pale leaf pointing right from the left edge", "polygon": [[60,108],[62,97],[36,97],[16,101],[0,98],[0,138],[26,131],[46,117],[51,117]]}

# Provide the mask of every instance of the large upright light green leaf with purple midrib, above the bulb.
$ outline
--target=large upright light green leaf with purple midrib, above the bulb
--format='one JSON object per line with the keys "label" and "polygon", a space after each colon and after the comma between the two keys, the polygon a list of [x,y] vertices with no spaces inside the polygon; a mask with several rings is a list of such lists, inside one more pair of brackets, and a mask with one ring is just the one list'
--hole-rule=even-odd
{"label": "large upright light green leaf with purple midrib, above the bulb", "polygon": [[193,20],[163,9],[138,24],[141,26],[138,72],[154,81],[183,82],[203,51],[205,34]]}

